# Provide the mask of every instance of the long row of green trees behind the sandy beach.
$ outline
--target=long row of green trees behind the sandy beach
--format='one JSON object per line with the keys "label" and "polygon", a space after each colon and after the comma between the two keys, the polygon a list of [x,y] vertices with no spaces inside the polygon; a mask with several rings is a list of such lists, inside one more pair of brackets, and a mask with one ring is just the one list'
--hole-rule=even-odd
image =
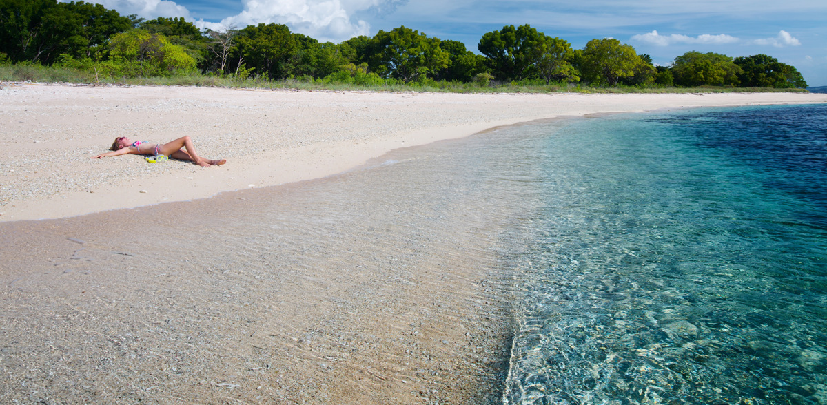
{"label": "long row of green trees behind the sandy beach", "polygon": [[183,18],[144,20],[99,4],[0,0],[0,64],[59,65],[109,77],[181,73],[371,84],[430,80],[584,83],[590,86],[806,88],[795,67],[768,55],[731,58],[687,52],[671,66],[612,38],[574,49],[532,26],[504,26],[480,38],[481,55],[459,41],[405,26],[319,42],[288,26],[199,30]]}

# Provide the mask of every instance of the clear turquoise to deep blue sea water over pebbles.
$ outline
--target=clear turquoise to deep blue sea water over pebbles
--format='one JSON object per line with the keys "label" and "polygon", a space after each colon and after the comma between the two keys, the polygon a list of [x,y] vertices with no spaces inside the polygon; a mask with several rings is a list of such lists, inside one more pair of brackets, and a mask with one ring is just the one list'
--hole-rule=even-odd
{"label": "clear turquoise to deep blue sea water over pebbles", "polygon": [[505,402],[827,403],[825,117],[507,130],[537,203],[507,257],[524,299]]}

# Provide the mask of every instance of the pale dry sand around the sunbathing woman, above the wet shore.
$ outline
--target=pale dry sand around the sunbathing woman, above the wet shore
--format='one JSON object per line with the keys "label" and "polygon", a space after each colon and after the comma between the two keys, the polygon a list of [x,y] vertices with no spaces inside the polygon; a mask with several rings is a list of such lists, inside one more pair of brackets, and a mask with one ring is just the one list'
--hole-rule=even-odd
{"label": "pale dry sand around the sunbathing woman, above the wet shore", "polygon": [[[345,93],[16,84],[7,122],[0,222],[74,217],[320,179],[390,150],[543,119],[662,108],[827,102],[825,94]],[[189,135],[201,169],[135,155],[89,160],[116,136]]]}

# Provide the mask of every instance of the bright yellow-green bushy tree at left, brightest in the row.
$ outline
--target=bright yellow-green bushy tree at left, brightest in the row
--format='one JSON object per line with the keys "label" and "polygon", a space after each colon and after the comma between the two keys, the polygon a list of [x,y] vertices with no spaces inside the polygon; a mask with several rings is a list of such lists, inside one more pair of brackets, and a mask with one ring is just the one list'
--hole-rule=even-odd
{"label": "bright yellow-green bushy tree at left, brightest in the row", "polygon": [[112,74],[165,76],[176,69],[192,69],[194,58],[165,36],[146,30],[131,30],[112,36],[109,55],[115,63]]}

